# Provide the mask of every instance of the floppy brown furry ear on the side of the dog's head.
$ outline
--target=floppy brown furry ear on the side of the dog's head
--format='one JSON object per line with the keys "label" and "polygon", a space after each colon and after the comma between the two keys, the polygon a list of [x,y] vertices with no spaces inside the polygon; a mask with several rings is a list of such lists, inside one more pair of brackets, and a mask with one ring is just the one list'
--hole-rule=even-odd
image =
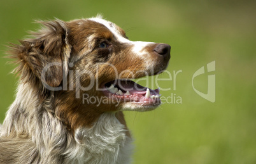
{"label": "floppy brown furry ear on the side of the dog's head", "polygon": [[[25,67],[45,86],[57,87],[68,73],[71,45],[68,42],[68,25],[61,20],[42,22],[41,30],[31,32],[33,38],[20,41],[22,45],[18,58],[23,61],[21,74]],[[22,69],[22,70],[21,70]],[[31,75],[29,75],[31,76]]]}

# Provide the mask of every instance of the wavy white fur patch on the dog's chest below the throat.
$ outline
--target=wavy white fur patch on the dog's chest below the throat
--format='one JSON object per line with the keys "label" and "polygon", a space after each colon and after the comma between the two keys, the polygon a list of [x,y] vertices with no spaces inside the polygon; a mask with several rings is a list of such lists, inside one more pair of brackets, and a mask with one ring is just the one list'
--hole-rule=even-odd
{"label": "wavy white fur patch on the dog's chest below the throat", "polygon": [[[72,163],[130,163],[132,139],[113,114],[102,115],[94,127],[78,129]],[[70,151],[72,153],[72,151]]]}

